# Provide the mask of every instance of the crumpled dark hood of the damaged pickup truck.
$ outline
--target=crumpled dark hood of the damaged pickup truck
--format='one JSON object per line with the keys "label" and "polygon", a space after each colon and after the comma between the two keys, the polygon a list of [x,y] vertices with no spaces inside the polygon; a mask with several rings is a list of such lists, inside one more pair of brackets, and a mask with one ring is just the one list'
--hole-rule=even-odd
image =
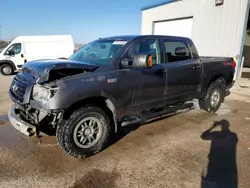
{"label": "crumpled dark hood of the damaged pickup truck", "polygon": [[36,83],[43,83],[75,74],[92,72],[98,67],[98,65],[71,60],[36,60],[26,63],[21,74],[32,76]]}

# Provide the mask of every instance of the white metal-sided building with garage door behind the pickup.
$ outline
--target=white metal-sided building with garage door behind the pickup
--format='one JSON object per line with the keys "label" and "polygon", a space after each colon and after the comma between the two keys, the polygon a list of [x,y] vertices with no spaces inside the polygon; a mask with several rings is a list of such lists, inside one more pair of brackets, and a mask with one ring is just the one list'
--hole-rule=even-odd
{"label": "white metal-sided building with garage door behind the pickup", "polygon": [[249,4],[250,0],[168,0],[142,9],[141,34],[189,37],[200,56],[239,55],[238,70],[244,51],[249,56],[244,65],[250,67]]}

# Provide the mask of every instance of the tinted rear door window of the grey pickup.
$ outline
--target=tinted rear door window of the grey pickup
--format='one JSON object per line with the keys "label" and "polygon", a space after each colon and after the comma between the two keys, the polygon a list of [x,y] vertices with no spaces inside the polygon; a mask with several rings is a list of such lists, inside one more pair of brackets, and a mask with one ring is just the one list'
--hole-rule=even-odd
{"label": "tinted rear door window of the grey pickup", "polygon": [[164,56],[168,62],[186,61],[192,59],[192,52],[186,41],[165,39],[163,40]]}

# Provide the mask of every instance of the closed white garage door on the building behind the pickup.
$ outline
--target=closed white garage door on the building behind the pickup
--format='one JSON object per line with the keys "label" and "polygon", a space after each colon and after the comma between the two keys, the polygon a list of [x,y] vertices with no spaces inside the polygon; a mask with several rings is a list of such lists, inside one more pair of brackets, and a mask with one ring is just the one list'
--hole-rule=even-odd
{"label": "closed white garage door on the building behind the pickup", "polygon": [[155,35],[170,35],[192,38],[193,18],[154,23]]}

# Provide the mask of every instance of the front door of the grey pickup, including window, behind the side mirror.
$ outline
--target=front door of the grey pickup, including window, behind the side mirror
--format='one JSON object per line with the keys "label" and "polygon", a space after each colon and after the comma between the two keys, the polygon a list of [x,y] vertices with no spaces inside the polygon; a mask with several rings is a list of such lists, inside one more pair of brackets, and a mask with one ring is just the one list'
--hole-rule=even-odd
{"label": "front door of the grey pickup, including window, behind the side mirror", "polygon": [[152,68],[121,68],[118,72],[119,91],[123,114],[140,113],[165,104],[166,72],[162,66],[160,45],[157,39],[136,42],[123,58],[132,59],[137,53],[153,56]]}

